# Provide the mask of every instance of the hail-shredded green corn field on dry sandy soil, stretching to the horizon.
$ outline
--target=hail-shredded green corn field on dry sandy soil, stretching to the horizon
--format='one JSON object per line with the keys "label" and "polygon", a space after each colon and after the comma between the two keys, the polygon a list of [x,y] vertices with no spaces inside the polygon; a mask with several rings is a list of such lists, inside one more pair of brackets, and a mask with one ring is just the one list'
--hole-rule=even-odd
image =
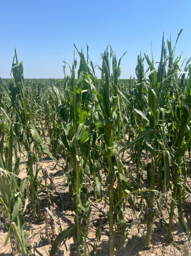
{"label": "hail-shredded green corn field on dry sandy soil, stretching to the horizon", "polygon": [[160,255],[152,254],[157,223],[167,245],[191,255],[191,58],[175,57],[181,32],[174,46],[163,35],[158,62],[140,53],[127,80],[120,62],[128,53],[117,62],[110,45],[98,66],[88,46],[84,54],[74,44],[60,80],[24,79],[15,49],[10,79],[0,78],[0,253],[10,246],[13,255],[34,255],[30,225],[42,222],[50,256],[62,247],[78,256],[141,255],[126,253],[132,230],[151,252],[144,255]]}

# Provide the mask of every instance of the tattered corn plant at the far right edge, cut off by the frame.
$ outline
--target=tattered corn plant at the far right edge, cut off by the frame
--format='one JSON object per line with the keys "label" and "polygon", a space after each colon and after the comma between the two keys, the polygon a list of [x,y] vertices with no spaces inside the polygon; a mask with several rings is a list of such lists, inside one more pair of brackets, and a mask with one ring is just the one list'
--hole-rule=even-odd
{"label": "tattered corn plant at the far right edge, cut off by the frame", "polygon": [[[188,137],[185,137],[187,132],[187,127],[190,122],[190,99],[191,99],[191,78],[190,78],[190,71],[191,71],[191,65],[184,68],[185,71],[188,70],[189,77],[187,80],[185,80],[185,74],[183,73],[181,75],[181,81],[179,82],[177,79],[177,73],[174,74],[175,77],[175,85],[177,86],[178,94],[179,95],[179,86],[182,87],[183,83],[186,84],[186,95],[185,97],[176,97],[175,99],[171,100],[171,103],[169,101],[169,107],[172,113],[172,118],[174,121],[174,130],[176,132],[176,142],[175,142],[175,152],[174,157],[172,158],[173,163],[173,191],[172,191],[172,197],[173,200],[171,201],[171,210],[170,210],[170,216],[169,216],[169,225],[166,232],[166,240],[173,241],[173,234],[172,234],[172,223],[173,223],[173,217],[174,217],[174,208],[175,203],[177,200],[177,206],[178,206],[178,219],[179,223],[185,233],[188,232],[188,228],[185,224],[184,218],[183,218],[183,212],[182,212],[182,199],[183,199],[183,192],[182,188],[189,192],[188,188],[181,183],[180,180],[180,173],[182,172],[182,161],[185,149],[187,145],[189,144],[189,141],[191,140],[190,135]],[[185,81],[184,81],[185,80]],[[182,83],[182,85],[181,85]],[[173,155],[172,155],[173,156]]]}

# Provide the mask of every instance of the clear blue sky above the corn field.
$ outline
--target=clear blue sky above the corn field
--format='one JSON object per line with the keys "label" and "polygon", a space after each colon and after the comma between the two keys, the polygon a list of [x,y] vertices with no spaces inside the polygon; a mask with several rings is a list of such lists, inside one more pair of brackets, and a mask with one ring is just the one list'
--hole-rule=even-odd
{"label": "clear blue sky above the corn field", "polygon": [[135,75],[140,50],[151,57],[152,41],[154,61],[158,61],[163,31],[165,41],[171,35],[174,45],[181,28],[176,55],[183,52],[182,60],[191,57],[190,0],[0,0],[0,4],[2,78],[10,78],[14,45],[23,61],[24,78],[63,78],[62,60],[72,64],[73,43],[78,49],[83,46],[85,56],[87,43],[89,58],[99,65],[108,44],[117,59],[128,50],[121,61],[121,78],[129,78]]}

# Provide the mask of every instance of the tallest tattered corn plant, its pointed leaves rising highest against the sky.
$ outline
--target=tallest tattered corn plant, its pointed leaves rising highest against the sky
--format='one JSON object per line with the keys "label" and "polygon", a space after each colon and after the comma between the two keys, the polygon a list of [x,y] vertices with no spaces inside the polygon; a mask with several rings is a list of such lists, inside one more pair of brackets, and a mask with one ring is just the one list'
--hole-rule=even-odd
{"label": "tallest tattered corn plant, its pointed leaves rising highest against the sky", "polygon": [[[180,32],[181,33],[181,32]],[[179,34],[180,34],[179,33]],[[179,35],[178,35],[179,37]],[[177,38],[178,40],[178,38]],[[170,45],[170,44],[169,44]],[[164,125],[164,118],[165,118],[165,100],[168,98],[168,88],[170,87],[171,83],[171,77],[174,75],[176,68],[171,68],[171,72],[166,72],[165,65],[167,63],[167,60],[170,60],[169,65],[173,65],[174,67],[177,66],[177,63],[179,59],[176,60],[175,63],[173,63],[173,56],[172,56],[172,50],[169,49],[170,57],[166,56],[166,48],[164,45],[164,35],[163,35],[163,42],[162,42],[162,52],[161,52],[161,61],[158,66],[158,70],[156,71],[153,66],[153,61],[151,62],[147,55],[145,55],[145,58],[147,60],[147,63],[149,65],[150,74],[149,74],[149,87],[148,88],[148,98],[145,96],[146,103],[150,110],[150,117],[149,119],[143,114],[141,111],[137,111],[143,118],[145,118],[147,121],[149,121],[147,126],[150,126],[151,128],[155,129],[156,135],[153,136],[152,139],[152,162],[147,165],[147,177],[148,177],[148,183],[151,190],[158,190],[158,184],[156,179],[156,175],[159,170],[162,168],[162,162],[164,162],[164,172],[165,172],[165,181],[163,181],[162,175],[158,176],[161,177],[160,184],[164,184],[163,187],[161,187],[162,192],[165,192],[167,187],[169,186],[170,182],[170,166],[169,166],[169,157],[168,153],[164,153],[164,161],[163,158],[160,160],[163,151],[169,152],[165,145],[166,140],[166,134],[165,129],[167,129]],[[176,74],[175,74],[176,75]],[[161,113],[161,114],[160,114]],[[163,116],[163,135],[161,134],[160,129],[158,128],[161,126],[160,124],[160,116]],[[157,148],[157,149],[156,149]],[[158,163],[160,162],[160,166],[157,167]],[[156,184],[156,187],[155,187]],[[163,197],[162,197],[163,198]],[[156,210],[154,209],[154,193],[152,193],[148,198],[148,213],[145,214],[145,219],[147,220],[147,235],[146,235],[146,247],[147,249],[151,248],[151,234],[152,234],[152,222],[153,218],[156,215]]]}

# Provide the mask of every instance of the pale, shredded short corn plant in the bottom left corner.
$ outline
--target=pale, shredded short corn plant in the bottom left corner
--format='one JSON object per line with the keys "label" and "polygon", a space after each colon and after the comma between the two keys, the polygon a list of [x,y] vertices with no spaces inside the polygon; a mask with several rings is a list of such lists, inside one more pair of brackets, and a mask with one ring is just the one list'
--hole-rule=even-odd
{"label": "pale, shredded short corn plant in the bottom left corner", "polygon": [[24,190],[28,184],[26,178],[22,180],[18,177],[20,172],[20,158],[15,163],[13,168],[13,129],[9,131],[9,147],[8,147],[8,163],[4,168],[2,157],[0,156],[0,211],[8,218],[6,226],[9,229],[4,246],[8,240],[11,242],[13,255],[19,252],[21,255],[30,254],[31,246],[27,242],[28,233],[24,231],[23,212],[26,209],[24,204]]}

